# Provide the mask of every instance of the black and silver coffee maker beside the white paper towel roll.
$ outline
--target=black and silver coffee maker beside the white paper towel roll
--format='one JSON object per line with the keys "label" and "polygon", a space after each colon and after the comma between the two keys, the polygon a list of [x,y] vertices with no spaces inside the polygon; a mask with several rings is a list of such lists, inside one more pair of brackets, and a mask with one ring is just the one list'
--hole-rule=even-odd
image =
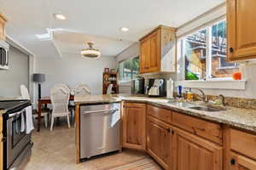
{"label": "black and silver coffee maker beside the white paper towel roll", "polygon": [[164,78],[148,79],[145,94],[148,94],[149,97],[165,97],[166,80]]}

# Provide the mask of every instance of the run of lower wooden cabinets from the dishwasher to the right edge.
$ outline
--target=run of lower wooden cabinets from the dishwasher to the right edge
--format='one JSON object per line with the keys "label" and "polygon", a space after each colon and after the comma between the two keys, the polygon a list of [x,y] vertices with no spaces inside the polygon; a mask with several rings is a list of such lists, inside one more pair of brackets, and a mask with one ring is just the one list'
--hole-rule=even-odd
{"label": "run of lower wooden cabinets from the dishwasher to the right edge", "polygon": [[255,133],[140,103],[122,113],[122,146],[147,148],[166,170],[256,170]]}

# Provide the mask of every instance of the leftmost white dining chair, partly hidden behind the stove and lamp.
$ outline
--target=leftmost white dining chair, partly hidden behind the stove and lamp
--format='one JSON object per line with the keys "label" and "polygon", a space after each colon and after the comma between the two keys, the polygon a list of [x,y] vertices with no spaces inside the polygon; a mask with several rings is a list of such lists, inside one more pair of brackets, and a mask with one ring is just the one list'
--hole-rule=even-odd
{"label": "leftmost white dining chair, partly hidden behind the stove and lamp", "polygon": [[[26,88],[25,85],[20,85],[20,94],[21,94],[21,98],[22,99],[28,99],[30,100],[30,95],[28,93],[28,90]],[[41,111],[41,116],[44,117],[44,127],[47,128],[48,127],[48,115],[49,115],[49,111]],[[34,112],[33,111],[33,119],[36,119],[38,117],[38,112]]]}

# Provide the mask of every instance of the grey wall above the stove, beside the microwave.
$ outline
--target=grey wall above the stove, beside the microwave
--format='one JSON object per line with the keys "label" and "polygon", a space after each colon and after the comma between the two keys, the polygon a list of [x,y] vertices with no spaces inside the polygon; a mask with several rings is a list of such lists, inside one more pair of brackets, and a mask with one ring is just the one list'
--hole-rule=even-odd
{"label": "grey wall above the stove, beside the microwave", "polygon": [[20,96],[20,85],[29,86],[29,57],[10,46],[9,70],[0,70],[0,97]]}

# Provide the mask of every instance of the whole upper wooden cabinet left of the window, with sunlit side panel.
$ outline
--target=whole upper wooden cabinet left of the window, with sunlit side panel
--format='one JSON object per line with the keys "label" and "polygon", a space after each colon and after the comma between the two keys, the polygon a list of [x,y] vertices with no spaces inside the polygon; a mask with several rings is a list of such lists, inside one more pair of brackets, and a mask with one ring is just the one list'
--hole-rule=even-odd
{"label": "whole upper wooden cabinet left of the window, with sunlit side panel", "polygon": [[140,39],[140,73],[176,71],[176,29],[159,26]]}

